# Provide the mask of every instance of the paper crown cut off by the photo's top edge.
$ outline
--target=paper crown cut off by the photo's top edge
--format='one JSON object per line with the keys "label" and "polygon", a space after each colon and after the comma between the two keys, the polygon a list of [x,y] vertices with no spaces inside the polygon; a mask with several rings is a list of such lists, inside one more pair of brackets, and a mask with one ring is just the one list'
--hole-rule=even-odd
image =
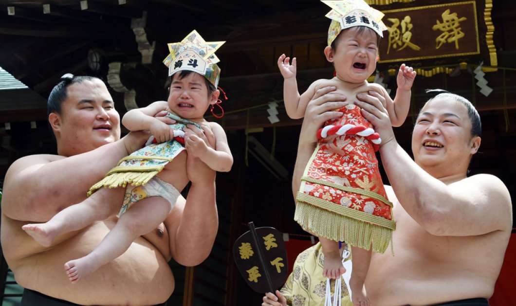
{"label": "paper crown cut off by the photo's top edge", "polygon": [[328,29],[328,45],[331,45],[343,29],[350,27],[372,28],[380,37],[383,37],[382,31],[387,29],[382,22],[383,13],[370,7],[363,0],[321,0],[321,2],[332,8],[326,14],[326,17],[331,19]]}

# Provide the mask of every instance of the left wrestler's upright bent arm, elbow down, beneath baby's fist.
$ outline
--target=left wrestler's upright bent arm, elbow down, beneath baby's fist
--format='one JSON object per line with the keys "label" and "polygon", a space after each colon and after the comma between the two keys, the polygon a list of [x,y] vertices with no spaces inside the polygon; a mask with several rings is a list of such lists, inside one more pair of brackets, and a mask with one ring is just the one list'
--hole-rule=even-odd
{"label": "left wrestler's upright bent arm, elbow down, beneath baby's fist", "polygon": [[[189,133],[215,146],[211,130],[203,126],[202,133],[191,127]],[[212,250],[218,229],[217,205],[215,202],[215,171],[197,157],[188,155],[186,162],[188,179],[191,182],[186,200],[180,197],[172,212],[165,219],[173,259],[184,266],[202,263]]]}

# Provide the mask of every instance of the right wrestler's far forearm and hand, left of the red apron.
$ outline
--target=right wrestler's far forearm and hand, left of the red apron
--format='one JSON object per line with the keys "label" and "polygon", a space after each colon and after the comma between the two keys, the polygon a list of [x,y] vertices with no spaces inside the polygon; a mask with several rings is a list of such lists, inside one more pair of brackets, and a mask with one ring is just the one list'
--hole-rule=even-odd
{"label": "right wrestler's far forearm and hand, left of the red apron", "polygon": [[312,100],[307,105],[307,111],[299,133],[299,144],[297,148],[296,165],[292,178],[292,192],[296,198],[297,191],[301,185],[301,176],[305,167],[314,152],[317,144],[317,130],[330,119],[336,119],[343,114],[340,111],[333,111],[346,105],[346,97],[342,94],[333,93],[335,87],[324,87],[317,90]]}

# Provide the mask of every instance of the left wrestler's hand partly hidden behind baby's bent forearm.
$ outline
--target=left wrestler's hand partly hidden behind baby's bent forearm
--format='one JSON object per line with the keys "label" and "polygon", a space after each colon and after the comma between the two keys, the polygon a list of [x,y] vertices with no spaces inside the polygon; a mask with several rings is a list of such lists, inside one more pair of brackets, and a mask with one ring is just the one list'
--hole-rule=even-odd
{"label": "left wrestler's hand partly hidden behind baby's bent forearm", "polygon": [[[185,143],[189,138],[197,137],[201,139],[207,147],[209,146],[210,148],[214,148],[215,136],[213,135],[212,128],[208,123],[201,124],[201,127],[202,130],[200,130],[195,125],[188,124],[184,129]],[[188,175],[188,179],[192,182],[192,184],[213,184],[215,181],[215,171],[203,163],[199,157],[193,154],[189,154],[189,152],[186,159],[186,174]]]}

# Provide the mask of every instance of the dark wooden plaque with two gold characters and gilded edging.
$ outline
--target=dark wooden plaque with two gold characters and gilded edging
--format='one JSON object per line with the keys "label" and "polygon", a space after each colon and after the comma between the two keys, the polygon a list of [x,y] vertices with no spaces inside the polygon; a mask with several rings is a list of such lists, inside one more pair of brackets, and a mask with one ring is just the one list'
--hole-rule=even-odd
{"label": "dark wooden plaque with two gold characters and gilded edging", "polygon": [[380,40],[379,70],[401,62],[416,67],[480,61],[497,65],[491,0],[424,3],[376,7],[388,28]]}

